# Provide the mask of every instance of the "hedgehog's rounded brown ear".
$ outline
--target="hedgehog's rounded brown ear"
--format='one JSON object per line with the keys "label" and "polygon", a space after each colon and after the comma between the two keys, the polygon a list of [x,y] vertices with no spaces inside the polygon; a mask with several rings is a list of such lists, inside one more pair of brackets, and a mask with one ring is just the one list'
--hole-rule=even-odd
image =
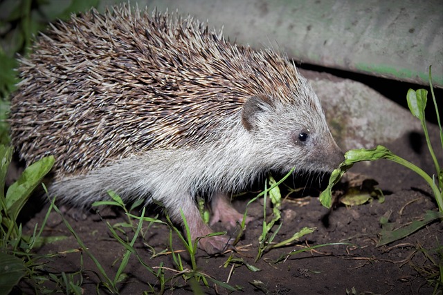
{"label": "hedgehog's rounded brown ear", "polygon": [[257,115],[273,108],[273,100],[269,95],[254,95],[246,99],[242,107],[242,124],[247,131],[255,129]]}

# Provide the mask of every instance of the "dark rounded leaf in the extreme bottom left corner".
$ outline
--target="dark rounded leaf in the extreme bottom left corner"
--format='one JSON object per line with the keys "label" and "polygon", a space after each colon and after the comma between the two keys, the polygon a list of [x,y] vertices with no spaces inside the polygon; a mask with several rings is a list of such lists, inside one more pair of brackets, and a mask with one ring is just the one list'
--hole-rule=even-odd
{"label": "dark rounded leaf in the extreme bottom left corner", "polygon": [[26,275],[24,262],[15,256],[0,253],[0,294],[9,294]]}

